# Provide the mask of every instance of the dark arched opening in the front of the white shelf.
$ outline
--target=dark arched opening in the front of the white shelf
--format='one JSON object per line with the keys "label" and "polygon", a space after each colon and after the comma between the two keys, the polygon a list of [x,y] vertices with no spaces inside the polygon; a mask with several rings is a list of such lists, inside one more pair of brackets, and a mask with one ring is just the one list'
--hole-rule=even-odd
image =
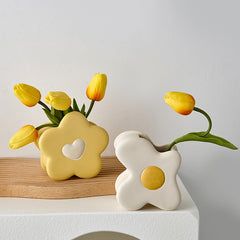
{"label": "dark arched opening in the front of the white shelf", "polygon": [[94,232],[74,238],[73,240],[139,240],[138,238],[118,232]]}

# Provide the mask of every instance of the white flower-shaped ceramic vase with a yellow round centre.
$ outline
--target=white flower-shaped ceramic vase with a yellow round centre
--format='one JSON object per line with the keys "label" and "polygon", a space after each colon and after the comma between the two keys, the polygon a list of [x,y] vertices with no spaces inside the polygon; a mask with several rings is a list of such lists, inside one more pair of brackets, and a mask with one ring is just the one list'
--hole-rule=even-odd
{"label": "white flower-shaped ceramic vase with a yellow round centre", "polygon": [[181,195],[176,175],[181,156],[176,147],[160,151],[137,131],[120,134],[114,147],[117,158],[126,167],[115,183],[117,201],[124,208],[138,210],[148,203],[163,210],[178,207]]}

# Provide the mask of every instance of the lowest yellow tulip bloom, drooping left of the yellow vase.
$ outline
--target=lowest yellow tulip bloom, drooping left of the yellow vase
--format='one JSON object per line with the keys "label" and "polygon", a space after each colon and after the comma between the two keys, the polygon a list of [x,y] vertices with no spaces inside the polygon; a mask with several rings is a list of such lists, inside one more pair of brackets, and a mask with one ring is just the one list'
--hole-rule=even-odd
{"label": "lowest yellow tulip bloom, drooping left of the yellow vase", "polygon": [[38,131],[32,125],[26,125],[19,129],[10,139],[9,147],[17,149],[29,143],[36,141],[38,138]]}

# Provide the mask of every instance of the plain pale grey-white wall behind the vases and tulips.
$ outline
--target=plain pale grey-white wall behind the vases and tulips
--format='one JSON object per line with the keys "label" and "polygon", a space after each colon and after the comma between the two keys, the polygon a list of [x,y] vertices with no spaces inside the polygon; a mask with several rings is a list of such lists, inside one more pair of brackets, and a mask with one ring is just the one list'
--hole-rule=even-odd
{"label": "plain pale grey-white wall behind the vases and tulips", "polygon": [[[80,103],[95,72],[109,84],[90,120],[110,134],[140,130],[158,144],[204,130],[198,113],[177,115],[166,91],[185,91],[208,111],[213,133],[240,146],[240,3],[234,0],[0,1],[0,155],[38,156],[31,145],[8,149],[22,125],[47,121],[12,87],[25,82],[63,90]],[[180,176],[200,210],[200,239],[239,239],[240,154],[213,144],[182,143]]]}

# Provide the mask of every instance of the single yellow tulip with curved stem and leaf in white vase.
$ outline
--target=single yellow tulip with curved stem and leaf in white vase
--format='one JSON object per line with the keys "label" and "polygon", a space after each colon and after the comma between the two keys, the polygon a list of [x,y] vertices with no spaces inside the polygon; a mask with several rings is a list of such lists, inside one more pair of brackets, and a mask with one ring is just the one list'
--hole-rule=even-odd
{"label": "single yellow tulip with curved stem and leaf in white vase", "polygon": [[195,99],[192,95],[184,92],[168,92],[165,94],[164,100],[177,113],[180,113],[182,115],[189,115],[192,113],[192,111],[195,111],[203,114],[203,116],[205,116],[208,120],[208,129],[206,131],[191,132],[182,137],[179,137],[167,146],[166,151],[171,150],[175,144],[185,141],[209,142],[233,150],[238,149],[235,145],[226,139],[211,134],[212,120],[204,110],[195,106]]}

